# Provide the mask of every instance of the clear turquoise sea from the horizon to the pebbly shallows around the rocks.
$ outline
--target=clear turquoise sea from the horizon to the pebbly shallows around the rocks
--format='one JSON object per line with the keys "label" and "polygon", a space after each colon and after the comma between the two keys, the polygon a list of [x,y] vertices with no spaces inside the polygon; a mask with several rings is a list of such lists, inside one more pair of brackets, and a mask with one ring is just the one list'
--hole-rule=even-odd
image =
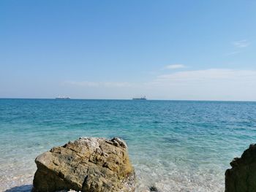
{"label": "clear turquoise sea from the horizon to the pebbly shallows around the rocks", "polygon": [[125,139],[138,191],[224,191],[256,140],[256,102],[0,99],[0,191],[30,185],[39,153],[82,136]]}

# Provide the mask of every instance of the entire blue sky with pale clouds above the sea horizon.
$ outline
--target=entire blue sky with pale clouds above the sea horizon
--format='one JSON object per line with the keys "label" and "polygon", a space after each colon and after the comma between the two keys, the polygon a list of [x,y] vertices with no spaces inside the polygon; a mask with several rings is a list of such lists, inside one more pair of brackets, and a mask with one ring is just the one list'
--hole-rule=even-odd
{"label": "entire blue sky with pale clouds above the sea horizon", "polygon": [[0,98],[256,101],[256,1],[0,1]]}

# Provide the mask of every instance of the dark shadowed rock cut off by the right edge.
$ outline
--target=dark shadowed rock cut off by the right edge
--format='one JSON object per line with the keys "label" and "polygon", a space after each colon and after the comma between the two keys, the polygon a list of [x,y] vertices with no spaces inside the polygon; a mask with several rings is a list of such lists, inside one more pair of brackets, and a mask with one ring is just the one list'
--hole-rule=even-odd
{"label": "dark shadowed rock cut off by the right edge", "polygon": [[250,145],[241,158],[234,158],[225,172],[225,192],[256,191],[256,145]]}

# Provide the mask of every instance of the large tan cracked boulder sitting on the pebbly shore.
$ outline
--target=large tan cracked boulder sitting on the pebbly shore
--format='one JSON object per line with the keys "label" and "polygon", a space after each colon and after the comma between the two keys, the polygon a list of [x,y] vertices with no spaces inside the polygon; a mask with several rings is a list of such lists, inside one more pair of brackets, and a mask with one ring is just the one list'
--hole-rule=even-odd
{"label": "large tan cracked boulder sitting on the pebbly shore", "polygon": [[134,191],[127,145],[118,138],[80,138],[36,160],[34,191]]}

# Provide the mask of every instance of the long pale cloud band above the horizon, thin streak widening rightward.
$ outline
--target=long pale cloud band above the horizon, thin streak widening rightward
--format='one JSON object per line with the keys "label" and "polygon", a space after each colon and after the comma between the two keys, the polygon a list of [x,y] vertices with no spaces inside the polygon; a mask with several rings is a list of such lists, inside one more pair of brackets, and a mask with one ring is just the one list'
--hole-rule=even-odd
{"label": "long pale cloud band above the horizon, thin streak widening rightward", "polygon": [[[203,69],[162,74],[147,82],[67,82],[88,98],[256,100],[256,70]],[[90,95],[91,94],[91,95]]]}

